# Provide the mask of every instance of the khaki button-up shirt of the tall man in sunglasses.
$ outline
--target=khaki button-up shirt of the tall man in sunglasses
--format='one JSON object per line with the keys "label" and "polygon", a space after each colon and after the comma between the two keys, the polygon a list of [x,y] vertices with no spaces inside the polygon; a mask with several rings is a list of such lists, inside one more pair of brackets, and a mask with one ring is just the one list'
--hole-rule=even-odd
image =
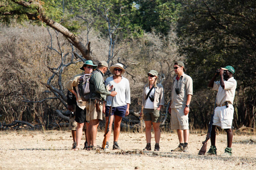
{"label": "khaki button-up shirt of the tall man in sunglasses", "polygon": [[[180,108],[185,107],[187,104],[187,96],[193,95],[193,80],[192,78],[183,73],[177,81],[177,76],[173,79],[173,87],[172,87],[172,104],[171,108]],[[175,92],[175,88],[180,89],[180,94],[177,95]]]}

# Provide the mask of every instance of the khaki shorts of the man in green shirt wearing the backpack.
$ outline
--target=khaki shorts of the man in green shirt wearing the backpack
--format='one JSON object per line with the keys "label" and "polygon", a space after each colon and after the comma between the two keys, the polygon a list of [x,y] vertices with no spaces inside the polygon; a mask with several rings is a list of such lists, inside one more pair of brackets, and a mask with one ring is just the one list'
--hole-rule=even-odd
{"label": "khaki shorts of the man in green shirt wearing the backpack", "polygon": [[91,121],[91,120],[103,120],[103,105],[99,104],[100,109],[97,112],[95,104],[93,103],[92,100],[87,101],[86,103],[86,121]]}

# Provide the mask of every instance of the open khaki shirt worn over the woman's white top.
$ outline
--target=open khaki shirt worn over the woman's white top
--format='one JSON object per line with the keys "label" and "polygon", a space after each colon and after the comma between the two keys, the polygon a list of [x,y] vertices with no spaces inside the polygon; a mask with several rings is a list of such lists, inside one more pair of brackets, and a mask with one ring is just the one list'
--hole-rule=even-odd
{"label": "open khaki shirt worn over the woman's white top", "polygon": [[[144,107],[146,104],[146,89],[149,85],[146,84],[143,88],[143,95],[142,95],[142,106]],[[162,84],[156,84],[155,87],[155,95],[154,95],[154,109],[157,109],[159,105],[164,105],[164,88]],[[150,100],[149,97],[147,100]]]}

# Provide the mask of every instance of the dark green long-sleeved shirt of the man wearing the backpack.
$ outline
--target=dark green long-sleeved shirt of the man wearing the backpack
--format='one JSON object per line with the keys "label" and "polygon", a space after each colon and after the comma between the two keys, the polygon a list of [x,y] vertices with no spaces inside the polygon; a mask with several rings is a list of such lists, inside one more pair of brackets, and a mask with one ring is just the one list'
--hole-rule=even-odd
{"label": "dark green long-sleeved shirt of the man wearing the backpack", "polygon": [[100,70],[96,69],[93,71],[90,78],[91,98],[97,98],[104,101],[107,95],[111,94],[111,92],[107,90],[103,77],[104,74]]}

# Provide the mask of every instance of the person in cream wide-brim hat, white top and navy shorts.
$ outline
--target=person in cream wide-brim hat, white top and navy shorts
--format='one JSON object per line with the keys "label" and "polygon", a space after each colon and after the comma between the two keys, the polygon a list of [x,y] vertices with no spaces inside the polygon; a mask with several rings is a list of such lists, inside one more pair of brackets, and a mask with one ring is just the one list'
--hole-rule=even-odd
{"label": "person in cream wide-brim hat, white top and navy shorts", "polygon": [[[109,71],[114,75],[106,79],[106,84],[108,84],[109,86],[113,86],[113,88],[115,88],[115,91],[117,92],[117,95],[115,96],[114,99],[110,96],[106,98],[106,100],[104,101],[103,113],[106,114],[106,128],[109,122],[109,116],[110,116],[109,127],[112,127],[113,120],[114,120],[114,124],[115,124],[114,143],[113,143],[113,150],[114,150],[114,149],[120,149],[117,141],[119,138],[121,121],[123,117],[129,115],[131,99],[130,99],[129,80],[122,76],[125,73],[123,64],[120,64],[120,63],[114,64],[110,66]],[[110,90],[110,91],[113,91],[113,90]],[[111,103],[112,99],[113,99],[113,104]],[[112,112],[109,115],[111,105],[113,106],[113,108],[112,108]],[[109,148],[108,142],[109,142],[110,134],[111,134],[111,128],[107,133],[106,149]]]}

